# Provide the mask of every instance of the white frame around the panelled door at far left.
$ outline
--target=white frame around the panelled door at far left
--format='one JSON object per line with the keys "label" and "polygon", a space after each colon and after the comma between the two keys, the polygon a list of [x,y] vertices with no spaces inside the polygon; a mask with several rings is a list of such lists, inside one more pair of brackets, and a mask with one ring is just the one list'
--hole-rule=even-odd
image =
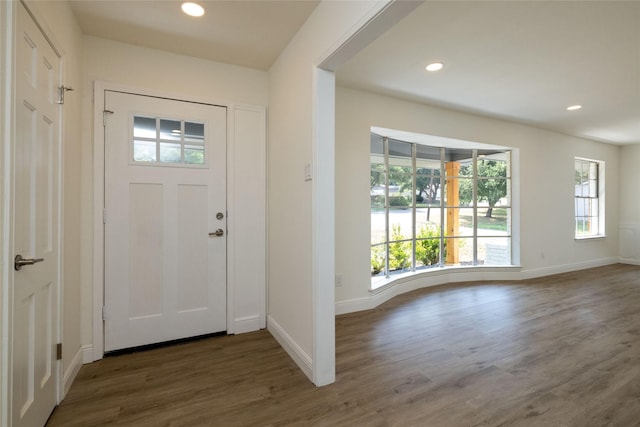
{"label": "white frame around the panelled door at far left", "polygon": [[[11,417],[13,413],[11,402],[12,388],[12,358],[13,351],[11,343],[13,341],[13,190],[14,179],[13,169],[13,143],[15,140],[15,86],[16,73],[13,64],[16,57],[16,31],[17,31],[17,14],[19,3],[22,3],[36,23],[45,39],[53,49],[58,58],[59,81],[56,85],[60,87],[64,82],[64,50],[56,39],[53,31],[46,25],[46,20],[37,9],[37,5],[31,1],[19,0],[19,2],[0,2],[0,177],[2,185],[0,186],[0,426],[11,425]],[[58,316],[55,320],[55,337],[56,342],[62,342],[63,337],[63,281],[64,277],[64,253],[62,252],[63,238],[63,220],[64,220],[64,181],[62,179],[64,173],[64,109],[60,108],[58,115],[58,173],[55,179],[58,182],[58,277],[56,281],[57,295],[55,303],[57,304]],[[53,369],[55,370],[55,390],[56,403],[59,404],[64,397],[64,381],[63,381],[63,361],[55,360]]]}

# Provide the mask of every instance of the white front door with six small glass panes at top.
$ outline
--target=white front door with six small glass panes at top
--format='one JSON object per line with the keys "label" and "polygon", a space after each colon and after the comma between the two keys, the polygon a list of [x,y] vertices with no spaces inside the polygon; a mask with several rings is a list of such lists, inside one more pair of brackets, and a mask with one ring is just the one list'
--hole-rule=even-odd
{"label": "white front door with six small glass panes at top", "polygon": [[226,108],[105,91],[105,351],[226,330]]}

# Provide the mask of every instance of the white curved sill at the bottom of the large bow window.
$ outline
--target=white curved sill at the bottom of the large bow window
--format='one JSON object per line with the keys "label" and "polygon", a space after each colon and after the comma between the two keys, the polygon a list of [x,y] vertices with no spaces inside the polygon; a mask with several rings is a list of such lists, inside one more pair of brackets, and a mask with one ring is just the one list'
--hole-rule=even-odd
{"label": "white curved sill at the bottom of the large bow window", "polygon": [[[389,277],[374,277],[369,285],[369,292],[377,293],[390,285],[401,284],[413,280],[427,280],[433,284],[445,284],[458,281],[504,280],[509,277],[495,277],[519,272],[520,265],[470,265],[430,268],[422,271],[409,271]],[[473,277],[469,277],[473,275]],[[489,275],[493,277],[489,277]]]}

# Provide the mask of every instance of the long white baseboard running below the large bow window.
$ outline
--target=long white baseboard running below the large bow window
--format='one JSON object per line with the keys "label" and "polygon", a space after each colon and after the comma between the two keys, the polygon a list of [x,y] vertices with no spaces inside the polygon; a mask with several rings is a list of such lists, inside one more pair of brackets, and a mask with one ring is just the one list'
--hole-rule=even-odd
{"label": "long white baseboard running below the large bow window", "polygon": [[[519,267],[510,268],[461,268],[456,270],[438,270],[424,274],[407,276],[393,284],[370,292],[370,296],[336,302],[336,315],[371,310],[391,298],[421,288],[445,285],[456,282],[476,282],[483,280],[525,280],[553,274],[569,273],[587,268],[602,267],[616,264],[619,258],[603,258],[594,261],[566,264],[553,267],[537,268],[534,270],[520,270]],[[640,265],[640,262],[636,261]],[[628,264],[632,264],[628,262]]]}

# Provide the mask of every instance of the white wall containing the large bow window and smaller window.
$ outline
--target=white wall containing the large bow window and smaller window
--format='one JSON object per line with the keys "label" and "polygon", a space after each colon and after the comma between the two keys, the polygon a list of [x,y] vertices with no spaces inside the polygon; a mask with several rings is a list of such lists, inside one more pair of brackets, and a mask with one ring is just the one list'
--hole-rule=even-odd
{"label": "white wall containing the large bow window and smaller window", "polygon": [[[520,188],[514,192],[518,191],[520,199],[522,269],[519,274],[510,272],[508,277],[533,277],[617,261],[619,147],[339,87],[336,94],[336,274],[342,274],[343,285],[336,289],[338,312],[372,307],[384,300],[376,299],[368,290],[371,126],[517,149],[519,164],[515,167]],[[640,150],[635,153],[636,159],[640,158]],[[606,238],[574,239],[576,156],[606,162]],[[635,181],[629,179],[629,182],[637,182],[638,178],[635,176]],[[636,214],[635,220],[640,223],[640,214]],[[474,277],[496,278],[498,275],[485,269],[469,273],[464,279]],[[416,280],[410,288],[450,280],[456,279],[439,276],[436,281]]]}

